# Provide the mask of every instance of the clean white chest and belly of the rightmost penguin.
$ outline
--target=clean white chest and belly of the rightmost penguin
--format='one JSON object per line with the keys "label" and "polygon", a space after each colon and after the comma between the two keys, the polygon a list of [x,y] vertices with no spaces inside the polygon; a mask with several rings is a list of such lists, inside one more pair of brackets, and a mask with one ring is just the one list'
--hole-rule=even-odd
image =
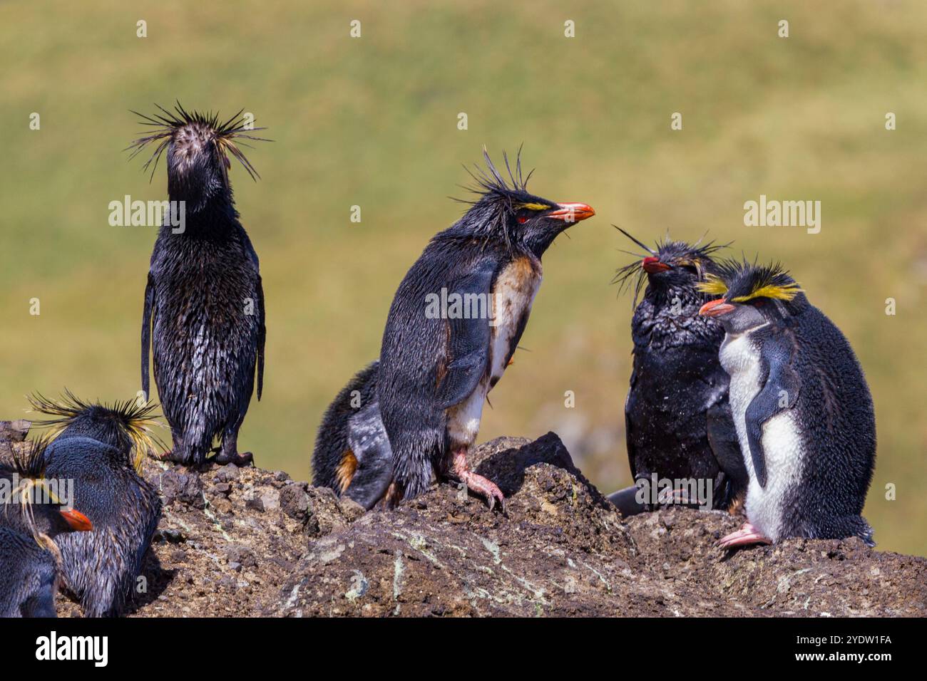
{"label": "clean white chest and belly of the rightmost penguin", "polygon": [[802,472],[804,448],[791,411],[781,411],[763,424],[763,459],[766,462],[766,486],[756,481],[753,456],[747,441],[746,410],[763,387],[760,381],[759,352],[750,342],[749,333],[725,336],[718,359],[730,374],[728,399],[737,428],[737,439],[750,483],[744,511],[747,520],[773,541],[782,534],[782,504],[797,484]]}

